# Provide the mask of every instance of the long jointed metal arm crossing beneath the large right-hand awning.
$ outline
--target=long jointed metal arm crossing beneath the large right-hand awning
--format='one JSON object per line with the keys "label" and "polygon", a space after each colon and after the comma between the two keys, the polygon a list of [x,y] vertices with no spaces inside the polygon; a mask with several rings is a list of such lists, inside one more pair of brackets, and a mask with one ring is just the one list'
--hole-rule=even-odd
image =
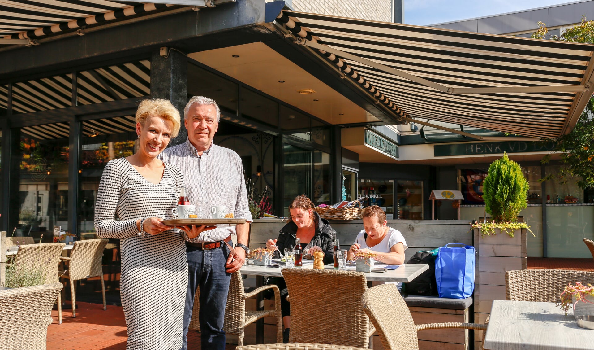
{"label": "long jointed metal arm crossing beneath the large right-hand awning", "polygon": [[369,59],[361,58],[359,56],[353,55],[352,53],[347,53],[344,51],[340,51],[338,49],[330,48],[326,45],[321,45],[318,43],[314,43],[310,40],[299,39],[298,42],[301,45],[309,46],[310,48],[318,49],[320,51],[326,51],[333,53],[336,56],[350,59],[351,61],[359,62],[364,65],[368,65],[369,67],[376,68],[380,71],[386,72],[388,74],[397,75],[398,77],[402,77],[408,79],[410,81],[415,81],[424,86],[432,87],[435,90],[445,92],[447,94],[491,94],[491,93],[548,93],[548,92],[579,92],[584,91],[590,88],[589,84],[583,85],[558,85],[558,86],[510,86],[510,87],[447,87],[438,83],[434,83],[431,80],[427,80],[425,78],[417,77],[416,75],[412,75],[410,73],[397,70],[396,68],[388,67],[387,65],[383,65],[378,62],[370,61]]}

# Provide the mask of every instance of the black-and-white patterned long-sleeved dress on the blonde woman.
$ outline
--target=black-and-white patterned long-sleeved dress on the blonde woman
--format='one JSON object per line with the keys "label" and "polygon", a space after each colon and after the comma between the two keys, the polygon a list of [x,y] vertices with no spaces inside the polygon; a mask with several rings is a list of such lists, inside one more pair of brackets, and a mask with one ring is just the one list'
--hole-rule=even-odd
{"label": "black-and-white patterned long-sleeved dress on the blonde woman", "polygon": [[184,176],[165,163],[163,178],[153,184],[127,159],[105,166],[97,191],[95,231],[99,237],[120,238],[122,274],[120,294],[127,349],[178,350],[182,328],[188,263],[179,230],[158,235],[138,232],[136,220],[156,216],[172,219]]}

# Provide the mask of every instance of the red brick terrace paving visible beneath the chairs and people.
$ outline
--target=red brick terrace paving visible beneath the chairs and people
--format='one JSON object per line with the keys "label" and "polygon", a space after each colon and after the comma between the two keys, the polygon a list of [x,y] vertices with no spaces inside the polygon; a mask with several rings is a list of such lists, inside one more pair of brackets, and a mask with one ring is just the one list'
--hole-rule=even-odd
{"label": "red brick terrace paving visible beneath the chairs and people", "polygon": [[[594,259],[528,258],[528,269],[584,270],[594,272]],[[126,323],[121,307],[78,302],[77,318],[72,319],[70,304],[62,308],[62,324],[58,311],[52,311],[53,323],[48,327],[48,350],[125,350]],[[190,331],[189,349],[200,349],[200,335]],[[227,346],[228,350],[235,345]]]}

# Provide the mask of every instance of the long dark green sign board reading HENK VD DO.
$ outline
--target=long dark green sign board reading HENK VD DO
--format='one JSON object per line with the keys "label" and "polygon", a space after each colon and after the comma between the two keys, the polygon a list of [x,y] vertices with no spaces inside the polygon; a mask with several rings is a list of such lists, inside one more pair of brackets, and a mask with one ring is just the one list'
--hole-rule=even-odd
{"label": "long dark green sign board reading HENK VD DO", "polygon": [[523,153],[545,152],[555,149],[552,142],[535,141],[501,141],[481,143],[436,144],[433,146],[435,157],[466,156],[469,154],[494,154],[494,153]]}

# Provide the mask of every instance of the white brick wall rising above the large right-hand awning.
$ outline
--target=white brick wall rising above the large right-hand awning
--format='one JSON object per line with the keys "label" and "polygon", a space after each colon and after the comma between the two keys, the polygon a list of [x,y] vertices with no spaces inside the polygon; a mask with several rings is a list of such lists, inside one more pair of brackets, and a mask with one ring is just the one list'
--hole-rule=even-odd
{"label": "white brick wall rising above the large right-hand awning", "polygon": [[[266,0],[271,2],[273,0]],[[293,0],[295,11],[372,21],[392,21],[393,0]]]}

